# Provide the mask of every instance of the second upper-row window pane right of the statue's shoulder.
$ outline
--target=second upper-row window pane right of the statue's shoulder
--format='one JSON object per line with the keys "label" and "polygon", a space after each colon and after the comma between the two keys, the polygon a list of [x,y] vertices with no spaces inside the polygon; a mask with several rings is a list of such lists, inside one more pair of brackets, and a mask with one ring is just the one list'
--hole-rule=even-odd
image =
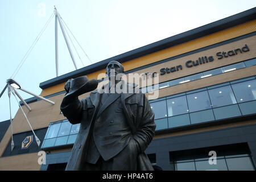
{"label": "second upper-row window pane right of the statue's shoulder", "polygon": [[167,100],[168,117],[188,113],[186,96],[175,97]]}

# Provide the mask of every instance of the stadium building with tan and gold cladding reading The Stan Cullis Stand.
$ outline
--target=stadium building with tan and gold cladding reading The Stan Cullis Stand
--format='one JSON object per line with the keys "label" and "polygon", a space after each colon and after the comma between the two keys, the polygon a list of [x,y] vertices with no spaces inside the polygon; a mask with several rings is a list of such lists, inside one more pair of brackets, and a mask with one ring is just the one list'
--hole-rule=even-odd
{"label": "stadium building with tan and gold cladding reading The Stan Cullis Stand", "polygon": [[[256,8],[243,11],[41,82],[40,96],[55,104],[32,97],[26,100],[31,111],[22,106],[40,146],[19,109],[13,151],[10,121],[0,123],[0,170],[64,170],[80,129],[60,111],[65,82],[98,78],[113,60],[126,74],[158,76],[159,85],[141,87],[147,97],[159,93],[150,100],[156,132],[146,154],[152,163],[170,171],[255,170],[255,17]],[[39,151],[46,152],[42,164]]]}

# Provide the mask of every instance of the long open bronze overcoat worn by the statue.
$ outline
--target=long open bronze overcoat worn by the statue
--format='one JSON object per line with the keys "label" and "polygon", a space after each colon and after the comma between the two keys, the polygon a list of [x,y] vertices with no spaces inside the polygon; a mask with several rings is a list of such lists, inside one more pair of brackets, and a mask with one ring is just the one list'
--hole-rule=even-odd
{"label": "long open bronze overcoat worn by the statue", "polygon": [[[90,96],[86,97],[85,100],[80,101],[76,98],[71,103],[67,104],[64,101],[61,103],[60,109],[69,122],[72,124],[81,123],[66,170],[82,169],[89,137],[93,135],[93,123],[104,109],[113,102],[110,101],[98,109],[101,96],[102,94],[97,90],[90,93]],[[150,160],[144,153],[155,134],[154,113],[150,104],[143,93],[122,93],[121,103],[126,122],[130,128],[131,138],[137,141],[141,150],[137,158],[137,170],[153,170]]]}

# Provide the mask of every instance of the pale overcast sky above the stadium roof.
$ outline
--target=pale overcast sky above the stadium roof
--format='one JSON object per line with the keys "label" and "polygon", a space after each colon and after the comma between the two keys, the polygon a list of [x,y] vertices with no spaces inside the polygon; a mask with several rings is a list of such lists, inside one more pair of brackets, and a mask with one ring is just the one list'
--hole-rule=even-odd
{"label": "pale overcast sky above the stadium roof", "polygon": [[[0,92],[52,15],[54,5],[89,59],[97,63],[249,10],[255,7],[256,1],[1,0]],[[38,95],[42,92],[40,82],[56,77],[54,25],[53,17],[14,77],[22,88]],[[90,65],[74,39],[73,43],[81,57],[80,60],[72,49],[77,66]],[[74,70],[59,27],[59,75]],[[24,99],[33,97],[18,92]],[[18,111],[14,96],[11,96],[11,109],[14,118]],[[0,122],[10,119],[7,90],[0,98],[0,110]]]}

